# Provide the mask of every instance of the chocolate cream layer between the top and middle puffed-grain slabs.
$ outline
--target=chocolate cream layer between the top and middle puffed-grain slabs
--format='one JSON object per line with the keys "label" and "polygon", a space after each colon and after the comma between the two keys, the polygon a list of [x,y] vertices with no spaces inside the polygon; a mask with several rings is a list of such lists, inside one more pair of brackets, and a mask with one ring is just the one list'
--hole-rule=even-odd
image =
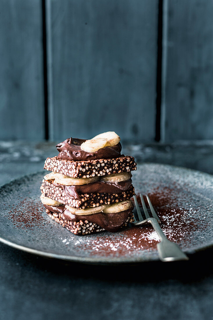
{"label": "chocolate cream layer between the top and middle puffed-grain slabs", "polygon": [[[130,188],[132,180],[121,181],[117,183],[106,183],[104,181],[95,181],[93,183],[77,185],[77,186],[64,186],[54,181],[52,184],[56,187],[63,189],[64,193],[72,199],[81,199],[82,194],[89,193],[121,193]],[[81,195],[81,196],[80,196]]]}

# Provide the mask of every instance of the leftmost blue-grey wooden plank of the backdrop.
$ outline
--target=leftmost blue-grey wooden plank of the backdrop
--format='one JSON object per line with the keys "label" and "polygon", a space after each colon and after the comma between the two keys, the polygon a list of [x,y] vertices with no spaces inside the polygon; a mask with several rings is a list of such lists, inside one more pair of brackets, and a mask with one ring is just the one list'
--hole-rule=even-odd
{"label": "leftmost blue-grey wooden plank of the backdrop", "polygon": [[0,139],[43,139],[40,0],[1,0],[0,75]]}

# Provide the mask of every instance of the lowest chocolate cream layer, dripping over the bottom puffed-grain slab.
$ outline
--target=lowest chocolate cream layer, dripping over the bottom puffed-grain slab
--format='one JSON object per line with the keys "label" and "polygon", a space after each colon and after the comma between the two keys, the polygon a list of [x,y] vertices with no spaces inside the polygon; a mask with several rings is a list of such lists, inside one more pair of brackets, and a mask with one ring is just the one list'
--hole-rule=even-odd
{"label": "lowest chocolate cream layer, dripping over the bottom puffed-grain slab", "polygon": [[63,218],[67,221],[78,222],[80,220],[82,221],[87,220],[89,222],[97,224],[98,226],[100,226],[101,228],[104,228],[109,232],[116,232],[127,221],[134,206],[132,205],[132,208],[125,211],[121,211],[121,212],[116,212],[116,213],[99,212],[99,213],[90,214],[90,215],[72,214],[68,209],[65,208],[64,205],[50,206],[50,205],[44,204],[44,207],[48,209],[50,212],[61,213],[63,215]]}

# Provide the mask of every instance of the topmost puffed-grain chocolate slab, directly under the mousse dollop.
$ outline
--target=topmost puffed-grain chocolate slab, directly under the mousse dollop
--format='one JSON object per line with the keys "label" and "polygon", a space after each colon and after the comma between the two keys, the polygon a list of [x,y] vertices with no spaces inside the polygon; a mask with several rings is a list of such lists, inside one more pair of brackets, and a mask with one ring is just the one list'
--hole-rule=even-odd
{"label": "topmost puffed-grain chocolate slab, directly under the mousse dollop", "polygon": [[136,165],[135,159],[131,156],[90,161],[70,161],[53,157],[46,159],[44,169],[72,178],[90,178],[137,170]]}

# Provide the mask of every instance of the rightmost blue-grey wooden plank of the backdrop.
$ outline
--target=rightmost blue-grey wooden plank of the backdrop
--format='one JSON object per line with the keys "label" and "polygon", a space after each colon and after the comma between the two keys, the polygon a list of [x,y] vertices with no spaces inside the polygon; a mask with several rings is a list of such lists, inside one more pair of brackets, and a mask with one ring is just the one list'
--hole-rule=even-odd
{"label": "rightmost blue-grey wooden plank of the backdrop", "polygon": [[213,139],[213,1],[164,4],[162,140]]}

